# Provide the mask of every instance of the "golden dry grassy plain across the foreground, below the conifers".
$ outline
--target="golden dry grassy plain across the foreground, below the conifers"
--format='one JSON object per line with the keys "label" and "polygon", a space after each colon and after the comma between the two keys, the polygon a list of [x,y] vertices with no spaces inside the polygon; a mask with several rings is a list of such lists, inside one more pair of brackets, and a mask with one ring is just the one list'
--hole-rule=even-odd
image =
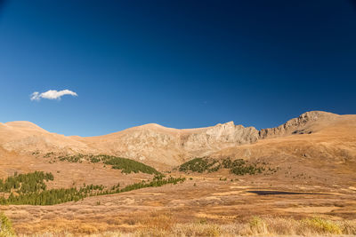
{"label": "golden dry grassy plain across the foreground, below the conifers", "polygon": [[[176,185],[91,196],[59,205],[6,205],[0,209],[12,220],[19,236],[356,234],[355,191],[347,185],[291,186],[295,178],[282,182],[263,174],[231,181],[234,177],[229,172],[190,174]],[[263,195],[251,190],[300,194]]]}

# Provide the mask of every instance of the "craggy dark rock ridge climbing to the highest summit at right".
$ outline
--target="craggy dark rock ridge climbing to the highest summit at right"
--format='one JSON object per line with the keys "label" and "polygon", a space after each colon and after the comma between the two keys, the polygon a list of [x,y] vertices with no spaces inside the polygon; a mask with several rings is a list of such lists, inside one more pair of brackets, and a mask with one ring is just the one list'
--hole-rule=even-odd
{"label": "craggy dark rock ridge climbing to the highest summit at right", "polygon": [[313,126],[315,125],[315,122],[330,122],[334,120],[336,116],[338,115],[322,111],[306,112],[297,118],[289,120],[277,128],[260,130],[259,138],[276,138],[292,134],[311,134],[318,128],[318,126]]}

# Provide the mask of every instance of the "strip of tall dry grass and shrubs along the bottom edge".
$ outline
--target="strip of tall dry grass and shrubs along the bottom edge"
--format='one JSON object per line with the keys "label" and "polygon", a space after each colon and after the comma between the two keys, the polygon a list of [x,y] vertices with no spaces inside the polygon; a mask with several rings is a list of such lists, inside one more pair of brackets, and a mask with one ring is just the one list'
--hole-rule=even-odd
{"label": "strip of tall dry grass and shrubs along the bottom edge", "polygon": [[[150,217],[150,218],[147,218]],[[90,226],[80,226],[77,233],[37,233],[20,235],[26,237],[60,237],[60,236],[91,236],[91,237],[178,237],[178,236],[340,236],[356,235],[356,221],[332,221],[321,217],[295,220],[279,217],[252,217],[248,222],[231,224],[215,224],[206,221],[190,223],[174,223],[169,214],[151,213],[150,216],[139,217],[140,225],[133,232],[100,232],[92,233]]]}

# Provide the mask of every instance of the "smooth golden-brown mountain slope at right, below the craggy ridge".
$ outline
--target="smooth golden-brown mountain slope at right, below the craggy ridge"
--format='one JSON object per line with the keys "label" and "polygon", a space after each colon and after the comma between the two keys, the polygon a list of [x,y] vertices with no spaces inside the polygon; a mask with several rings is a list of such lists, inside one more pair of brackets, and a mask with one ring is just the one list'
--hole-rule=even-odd
{"label": "smooth golden-brown mountain slope at right, below the craggy ridge", "polygon": [[[255,144],[222,149],[212,156],[247,160],[263,159],[275,165],[297,163],[298,165],[294,167],[298,167],[301,172],[314,168],[315,172],[328,170],[330,176],[334,172],[334,174],[348,173],[354,177],[356,172],[356,115],[323,113],[318,115],[320,115],[320,120],[305,118],[305,114],[301,115],[292,122],[287,122],[277,129],[271,129],[276,133],[269,133],[269,131],[263,133],[269,136],[259,139]],[[297,121],[300,121],[298,126],[290,126]],[[301,132],[294,132],[294,130]]]}

